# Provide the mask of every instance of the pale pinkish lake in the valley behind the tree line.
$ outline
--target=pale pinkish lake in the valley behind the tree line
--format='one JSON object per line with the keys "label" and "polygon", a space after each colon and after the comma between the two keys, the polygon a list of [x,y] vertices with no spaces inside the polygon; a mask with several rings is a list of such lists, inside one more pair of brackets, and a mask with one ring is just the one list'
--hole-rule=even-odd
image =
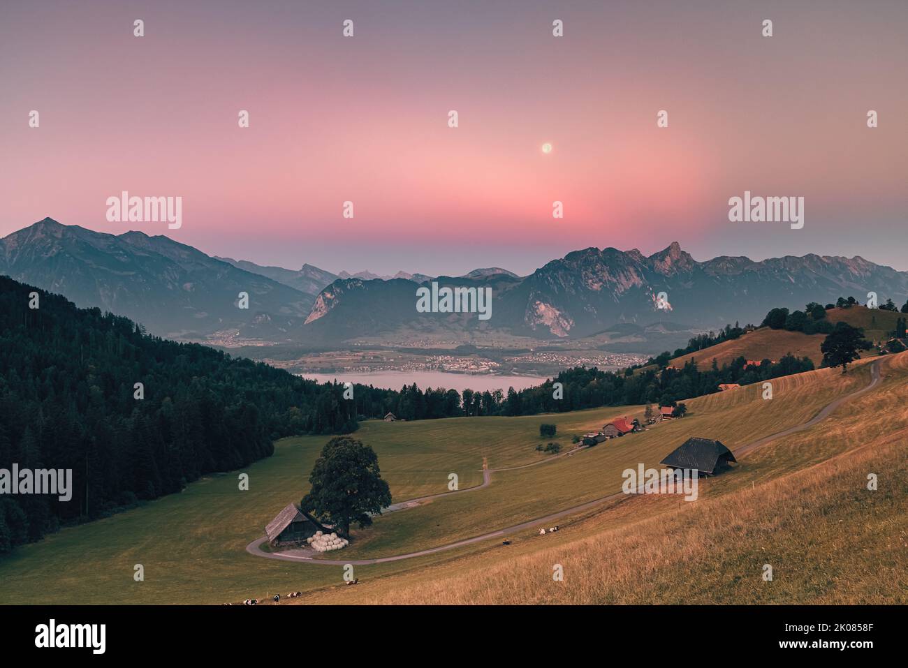
{"label": "pale pinkish lake in the valley behind the tree line", "polygon": [[320,383],[337,380],[341,383],[361,383],[375,388],[400,389],[404,385],[416,383],[419,389],[445,388],[456,389],[462,392],[465,389],[485,392],[501,389],[505,392],[508,388],[525,389],[534,385],[541,385],[546,378],[538,376],[491,376],[488,374],[450,373],[449,371],[375,371],[361,373],[302,373],[302,378],[318,380]]}

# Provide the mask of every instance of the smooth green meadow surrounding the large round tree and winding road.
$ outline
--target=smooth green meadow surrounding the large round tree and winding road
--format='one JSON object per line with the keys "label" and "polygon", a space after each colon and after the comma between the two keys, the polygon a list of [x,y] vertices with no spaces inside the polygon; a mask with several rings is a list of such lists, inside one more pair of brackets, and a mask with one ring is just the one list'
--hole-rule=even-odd
{"label": "smooth green meadow surrounding the large round tree and winding road", "polygon": [[[571,457],[516,471],[492,474],[486,489],[454,495],[387,516],[354,533],[340,555],[350,559],[396,555],[481,535],[518,522],[606,496],[621,486],[621,471],[643,462],[656,466],[686,437],[716,437],[735,449],[756,437],[804,422],[833,398],[863,387],[866,364],[842,377],[821,369],[774,380],[775,399],[759,388],[688,401],[689,415],[646,433],[629,435]],[[558,440],[571,447],[581,434],[642,407],[607,408],[559,416],[460,417],[409,423],[364,423],[356,437],[374,447],[395,501],[447,490],[449,473],[461,488],[479,485],[483,457],[490,468],[538,461],[535,447],[542,422],[558,424]],[[281,507],[298,501],[327,437],[284,439],[267,460],[245,469],[250,490],[238,489],[237,474],[208,476],[183,493],[159,499],[84,526],[65,528],[0,560],[2,603],[207,603],[220,604],[266,593],[311,591],[341,584],[341,567],[288,563],[249,555],[245,546]],[[803,467],[817,457],[763,462],[729,476],[726,486],[750,485],[780,470]],[[721,478],[719,478],[721,480]],[[357,566],[360,578],[417,573],[464,555],[498,559],[495,541],[384,565]],[[332,555],[337,558],[338,554]],[[133,581],[133,565],[144,566],[144,582]]]}

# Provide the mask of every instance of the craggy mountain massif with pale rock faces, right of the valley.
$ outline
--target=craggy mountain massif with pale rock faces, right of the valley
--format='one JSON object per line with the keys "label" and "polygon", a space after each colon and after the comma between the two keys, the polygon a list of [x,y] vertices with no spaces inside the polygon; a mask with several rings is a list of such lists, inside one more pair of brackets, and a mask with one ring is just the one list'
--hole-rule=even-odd
{"label": "craggy mountain massif with pale rock faces, right of the valley", "polygon": [[[636,249],[573,251],[523,279],[510,272],[470,273],[470,278],[440,277],[439,284],[492,287],[488,321],[480,322],[475,314],[418,314],[414,281],[405,281],[406,290],[400,285],[391,289],[383,281],[362,281],[363,288],[352,291],[361,298],[368,290],[368,302],[350,298],[350,286],[336,281],[316,300],[302,336],[309,336],[307,329],[315,322],[322,338],[330,338],[332,331],[337,336],[363,336],[401,325],[451,329],[454,321],[459,328],[505,329],[538,338],[585,337],[615,323],[655,319],[662,331],[671,332],[718,328],[735,321],[759,323],[776,306],[804,309],[809,301],[826,303],[843,295],[864,301],[871,290],[881,302],[891,297],[900,305],[908,295],[908,272],[860,257],[806,255],[759,262],[722,257],[698,262],[677,242],[648,257]],[[657,308],[660,292],[666,298],[662,309]],[[368,325],[358,327],[360,310],[366,308],[375,312],[369,314]]]}

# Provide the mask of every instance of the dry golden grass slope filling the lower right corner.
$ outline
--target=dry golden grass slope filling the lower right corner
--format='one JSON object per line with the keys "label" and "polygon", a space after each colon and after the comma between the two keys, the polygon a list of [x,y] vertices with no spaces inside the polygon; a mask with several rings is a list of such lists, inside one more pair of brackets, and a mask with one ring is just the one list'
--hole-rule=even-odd
{"label": "dry golden grass slope filling the lower right corner", "polygon": [[[906,377],[908,353],[883,359],[880,385],[817,427],[745,457],[734,473],[702,485],[696,503],[634,497],[579,521],[572,529],[592,532],[579,540],[528,544],[508,559],[491,550],[461,556],[300,603],[903,604]],[[787,470],[792,463],[802,467]],[[774,465],[787,473],[754,475]],[[876,491],[867,489],[869,473],[879,476]],[[597,530],[616,516],[624,523]],[[556,564],[563,582],[552,579]],[[762,578],[765,564],[772,582]]]}

